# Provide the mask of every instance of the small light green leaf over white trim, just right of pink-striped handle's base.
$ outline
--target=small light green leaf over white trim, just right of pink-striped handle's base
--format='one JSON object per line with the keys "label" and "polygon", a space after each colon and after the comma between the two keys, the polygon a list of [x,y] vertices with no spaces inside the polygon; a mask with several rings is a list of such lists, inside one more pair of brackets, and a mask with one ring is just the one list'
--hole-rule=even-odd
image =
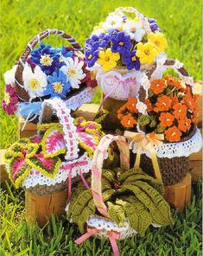
{"label": "small light green leaf over white trim, just right of pink-striped handle's base", "polygon": [[118,227],[122,227],[125,221],[124,207],[122,205],[115,205],[112,202],[107,202],[107,206],[111,220],[115,221]]}

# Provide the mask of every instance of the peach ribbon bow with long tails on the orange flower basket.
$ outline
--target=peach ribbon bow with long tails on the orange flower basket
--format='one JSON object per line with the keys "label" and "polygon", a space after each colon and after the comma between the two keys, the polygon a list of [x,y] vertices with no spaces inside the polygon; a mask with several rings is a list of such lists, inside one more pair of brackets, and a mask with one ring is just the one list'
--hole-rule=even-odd
{"label": "peach ribbon bow with long tails on the orange flower basket", "polygon": [[163,143],[162,140],[164,139],[164,135],[157,134],[155,132],[145,134],[141,132],[124,131],[124,137],[130,140],[131,148],[133,148],[135,144],[137,145],[135,167],[140,166],[141,150],[149,150],[153,167],[155,170],[155,177],[157,180],[162,182],[162,175],[159,169],[159,163],[156,157],[154,146],[162,145]]}

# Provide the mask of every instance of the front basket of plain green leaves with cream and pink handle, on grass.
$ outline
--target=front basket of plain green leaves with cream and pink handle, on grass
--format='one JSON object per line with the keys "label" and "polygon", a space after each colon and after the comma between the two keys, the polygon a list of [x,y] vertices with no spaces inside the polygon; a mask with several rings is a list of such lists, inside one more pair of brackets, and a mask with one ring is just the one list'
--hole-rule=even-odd
{"label": "front basket of plain green leaves with cream and pink handle, on grass", "polygon": [[[140,230],[135,230],[135,228],[131,227],[132,223],[134,225],[135,223],[139,222],[139,220],[137,220],[139,217],[138,217],[138,215],[136,215],[139,212],[138,208],[137,208],[138,212],[136,212],[134,214],[132,213],[132,215],[129,214],[128,216],[125,216],[123,224],[119,225],[115,221],[112,221],[112,220],[113,219],[115,220],[115,216],[121,210],[123,201],[122,200],[119,201],[117,199],[119,201],[120,205],[118,203],[118,205],[115,209],[116,211],[111,212],[110,205],[113,206],[114,205],[113,203],[115,203],[115,202],[112,201],[112,202],[108,202],[106,204],[106,200],[104,200],[104,198],[107,195],[106,192],[108,192],[107,187],[105,187],[105,190],[104,190],[105,192],[103,191],[103,186],[104,185],[106,186],[104,178],[107,178],[107,180],[110,181],[113,170],[109,170],[109,171],[108,170],[102,170],[102,167],[103,167],[103,163],[104,163],[104,160],[105,160],[105,157],[106,157],[108,147],[113,141],[117,142],[117,146],[118,146],[118,149],[120,151],[121,169],[119,169],[119,170],[124,172],[122,174],[122,172],[120,173],[118,169],[116,170],[116,173],[117,172],[119,173],[119,175],[117,175],[118,180],[119,180],[119,177],[120,177],[120,179],[123,180],[123,185],[122,185],[121,180],[120,180],[121,183],[118,182],[118,180],[117,180],[117,182],[115,183],[115,189],[120,189],[120,193],[122,193],[122,188],[124,189],[124,187],[125,187],[125,185],[124,185],[124,176],[125,177],[128,176],[128,178],[127,178],[127,180],[128,180],[127,183],[128,184],[127,184],[127,187],[126,187],[128,189],[130,189],[130,181],[132,182],[133,176],[136,176],[135,181],[132,182],[135,186],[136,186],[136,181],[138,181],[139,178],[142,180],[142,184],[144,184],[144,185],[146,185],[146,183],[144,183],[144,182],[147,182],[147,181],[149,181],[149,179],[151,179],[151,177],[144,174],[144,172],[140,169],[129,170],[130,169],[130,150],[129,150],[129,145],[127,144],[126,139],[124,137],[106,135],[104,138],[102,138],[100,140],[100,143],[98,144],[98,148],[97,148],[97,150],[95,150],[95,153],[94,153],[94,156],[93,156],[92,187],[90,189],[90,192],[92,193],[93,198],[92,198],[92,201],[84,202],[84,203],[86,203],[86,208],[83,211],[84,214],[85,214],[85,212],[91,214],[91,212],[92,212],[92,203],[93,203],[94,206],[96,207],[96,212],[95,212],[95,214],[92,214],[90,216],[90,218],[86,217],[87,218],[87,221],[86,221],[87,233],[84,234],[82,237],[80,237],[78,240],[76,240],[76,243],[78,243],[78,244],[81,243],[83,240],[86,240],[91,235],[96,235],[97,237],[100,237],[100,238],[106,237],[106,238],[109,238],[110,241],[111,241],[111,246],[112,246],[114,255],[117,255],[118,251],[117,251],[116,240],[124,240],[125,238],[130,237],[133,234],[139,233]],[[106,172],[105,176],[103,176],[104,174],[102,174],[104,172]],[[132,175],[132,176],[130,176],[130,175]],[[154,183],[154,188],[157,189],[159,192],[157,190],[153,190],[153,192],[152,192],[152,187],[153,187],[152,184],[153,183]],[[159,202],[162,202],[162,207],[164,208],[164,210],[163,210],[164,214],[162,213],[163,214],[162,215],[162,217],[163,217],[162,221],[163,222],[166,221],[166,220],[169,221],[170,217],[169,217],[169,214],[168,214],[169,213],[168,204],[164,201],[162,196],[159,194],[159,193],[162,193],[162,191],[163,191],[162,190],[163,189],[162,188],[162,183],[158,182],[157,180],[152,178],[151,182],[149,182],[148,184],[152,185],[152,187],[150,187],[150,185],[147,185],[148,189],[150,190],[151,196],[153,197],[153,193],[155,192],[155,195],[157,196],[157,198],[159,197],[159,200],[160,200]],[[74,189],[75,190],[73,190],[73,191],[77,194],[77,195],[75,195],[77,200],[79,200],[79,196],[80,197],[83,196],[83,195],[85,196],[85,194],[83,194],[85,188],[82,189],[82,187],[78,187],[78,190],[76,188],[74,188]],[[112,198],[113,198],[113,193],[115,193],[114,191],[116,191],[115,189],[114,190],[113,189],[109,190],[111,192]],[[125,191],[124,195],[127,196],[127,197],[130,197],[130,194],[128,193],[128,191],[130,191],[130,190],[128,190],[128,189]],[[142,192],[138,192],[138,191],[141,191],[141,190],[139,190],[139,189],[137,190],[138,195],[137,194],[136,195],[139,197],[139,194],[142,194]],[[146,192],[146,190],[145,190],[145,192]],[[86,193],[86,198],[89,198],[89,197],[91,198],[91,195],[88,194],[88,191],[85,190],[84,193]],[[117,195],[117,196],[119,197],[119,195]],[[144,194],[144,196],[145,196],[145,194]],[[115,197],[116,197],[116,194],[115,194]],[[116,198],[118,198],[118,197],[116,197]],[[127,197],[125,197],[126,200],[127,200]],[[141,197],[140,197],[140,200],[142,201],[143,199],[141,199]],[[119,197],[119,198],[121,198],[121,197]],[[147,197],[145,197],[145,199],[146,198]],[[115,198],[114,198],[114,200],[117,202],[117,200]],[[130,202],[128,207],[126,205],[126,207],[130,208],[132,206],[131,203],[132,202]],[[137,201],[136,203],[137,203],[137,207],[138,207],[138,204],[140,204],[140,202]],[[135,203],[135,208],[136,208],[136,203]],[[108,207],[106,205],[108,205]],[[73,202],[73,205],[71,205],[71,203],[69,203],[67,205],[66,211],[67,211],[67,214],[70,216],[71,221],[75,221],[75,219],[74,219],[75,216],[72,215],[72,211],[77,212],[78,214],[79,214],[80,210],[82,211],[82,209],[79,210],[79,208],[77,208],[77,206],[79,206],[79,208],[81,208],[81,204],[79,204],[79,202],[77,202],[77,203]],[[146,212],[144,212],[144,209],[142,210],[140,208],[140,210],[142,211],[142,213],[140,212],[140,214],[142,216],[144,216],[144,213],[146,213]],[[133,209],[132,209],[132,212],[133,212]],[[149,212],[150,212],[150,210],[149,210]],[[164,220],[165,217],[166,217],[166,219]],[[82,212],[81,212],[81,214],[78,215],[78,218],[80,220],[79,223],[81,223],[81,221],[84,221],[84,219],[83,219],[84,215],[82,214]],[[150,217],[149,217],[149,219],[150,219]],[[143,220],[143,221],[140,221],[139,223],[142,222],[142,223],[146,224],[145,221],[148,222],[149,220],[148,221]],[[157,221],[157,222],[159,222],[159,221]],[[149,221],[147,226],[149,227],[149,225],[152,224],[154,227],[161,227],[162,225],[167,224],[167,221],[164,222],[165,224],[163,224],[163,222],[161,224],[161,222],[155,223],[155,220],[154,220],[154,222]],[[79,226],[81,227],[81,225],[79,225]]]}

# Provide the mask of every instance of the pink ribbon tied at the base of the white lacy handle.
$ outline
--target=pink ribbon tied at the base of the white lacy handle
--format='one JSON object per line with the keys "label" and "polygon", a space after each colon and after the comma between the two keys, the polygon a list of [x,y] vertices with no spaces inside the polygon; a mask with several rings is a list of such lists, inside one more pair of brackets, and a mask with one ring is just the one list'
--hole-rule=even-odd
{"label": "pink ribbon tied at the base of the white lacy handle", "polygon": [[[68,176],[68,199],[69,201],[71,200],[71,190],[72,190],[72,171],[74,167],[80,167],[80,166],[85,166],[87,164],[87,161],[81,161],[79,163],[67,163],[66,165],[63,166],[63,169],[69,170],[69,176]],[[79,176],[81,177],[82,181],[84,182],[86,189],[90,189],[89,185],[86,182],[85,177],[82,174],[82,171],[79,170]]]}

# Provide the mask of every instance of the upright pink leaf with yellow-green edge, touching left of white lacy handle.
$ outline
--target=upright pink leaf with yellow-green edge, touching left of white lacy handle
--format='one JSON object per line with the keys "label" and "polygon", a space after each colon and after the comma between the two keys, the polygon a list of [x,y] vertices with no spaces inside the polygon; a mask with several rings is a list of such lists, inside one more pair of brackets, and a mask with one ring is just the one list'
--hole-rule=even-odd
{"label": "upright pink leaf with yellow-green edge, touching left of white lacy handle", "polygon": [[55,157],[66,152],[66,142],[61,129],[49,128],[41,141],[44,157]]}

